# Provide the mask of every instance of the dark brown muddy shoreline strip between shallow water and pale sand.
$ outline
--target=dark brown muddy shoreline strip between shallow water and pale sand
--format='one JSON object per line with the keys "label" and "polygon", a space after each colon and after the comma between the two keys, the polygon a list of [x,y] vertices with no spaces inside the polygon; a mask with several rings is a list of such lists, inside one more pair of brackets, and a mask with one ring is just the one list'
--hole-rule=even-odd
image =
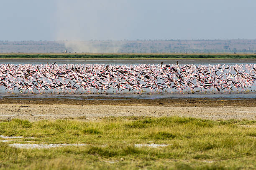
{"label": "dark brown muddy shoreline strip between shallow water and pale sand", "polygon": [[60,99],[60,98],[0,98],[0,104],[40,105],[123,105],[123,106],[181,106],[181,107],[256,107],[256,98],[160,98],[160,99]]}

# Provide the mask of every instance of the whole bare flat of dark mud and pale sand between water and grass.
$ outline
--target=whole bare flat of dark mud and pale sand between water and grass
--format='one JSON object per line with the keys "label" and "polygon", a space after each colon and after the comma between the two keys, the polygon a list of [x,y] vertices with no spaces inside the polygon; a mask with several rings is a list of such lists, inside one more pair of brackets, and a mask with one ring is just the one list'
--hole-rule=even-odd
{"label": "whole bare flat of dark mud and pale sand between water and grass", "polygon": [[105,116],[185,116],[203,119],[256,120],[256,99],[72,100],[2,98],[0,119],[97,120]]}

